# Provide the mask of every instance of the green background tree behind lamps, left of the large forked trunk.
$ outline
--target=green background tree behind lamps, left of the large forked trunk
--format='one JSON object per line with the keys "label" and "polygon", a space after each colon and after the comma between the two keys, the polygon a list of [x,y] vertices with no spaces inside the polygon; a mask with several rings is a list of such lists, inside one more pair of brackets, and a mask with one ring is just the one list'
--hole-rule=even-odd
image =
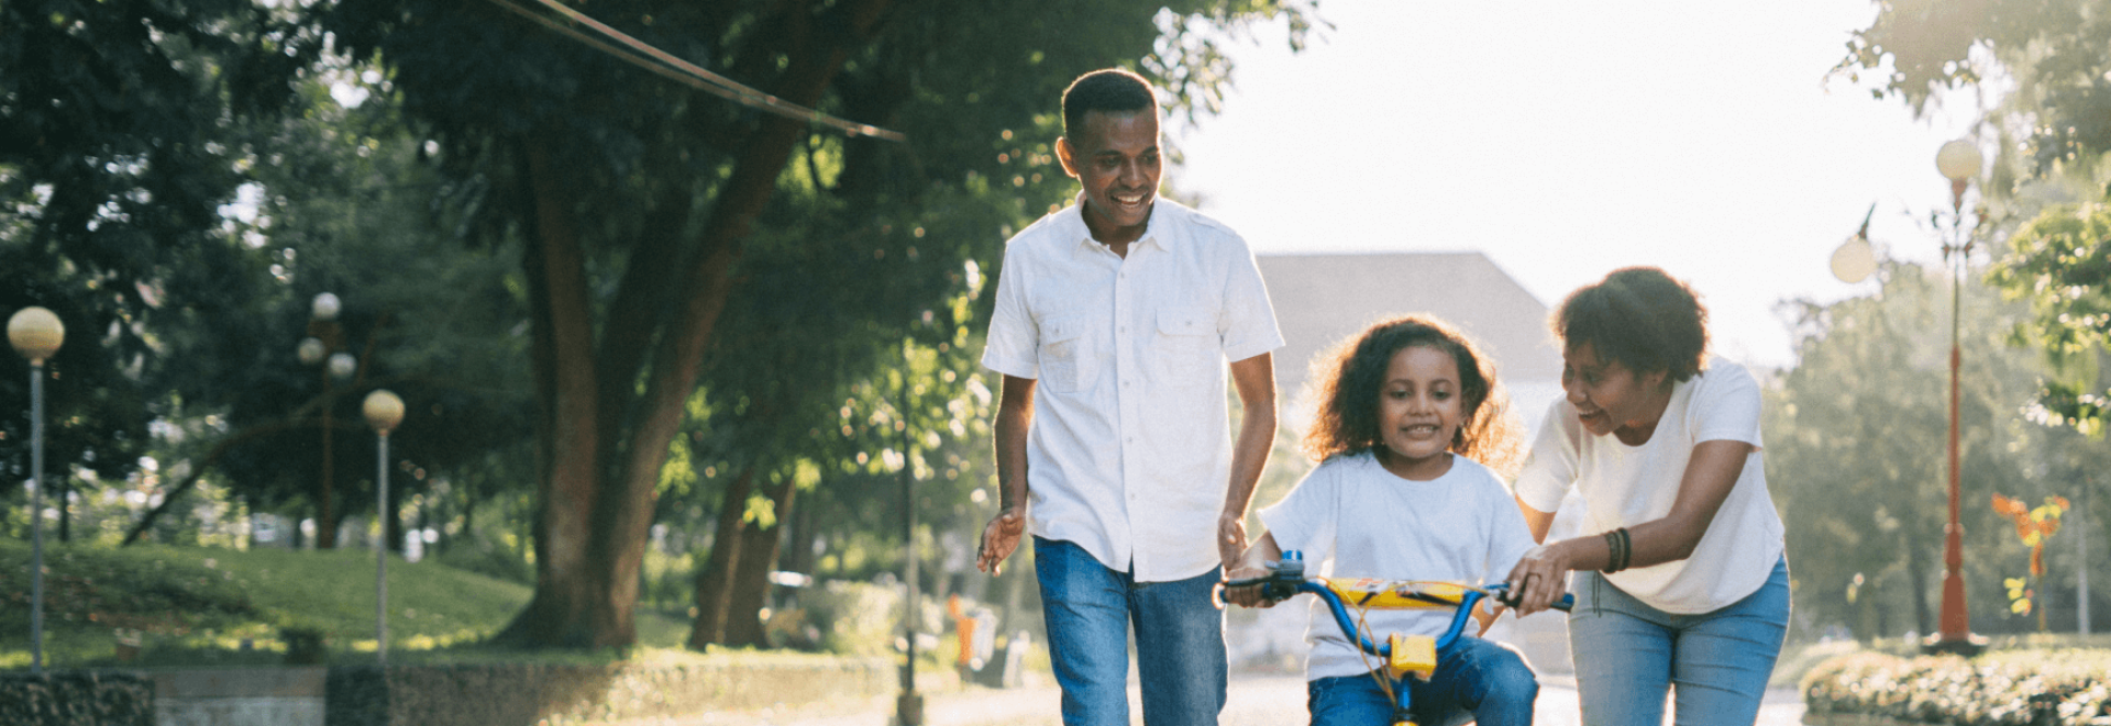
{"label": "green background tree behind lamps, left of the large forked trunk", "polygon": [[[336,99],[384,91],[378,72],[327,61],[298,80],[296,114],[234,118],[224,131],[247,182],[217,234],[251,251],[253,266],[230,270],[249,293],[241,308],[175,310],[156,329],[182,350],[160,378],[177,390],[160,416],[213,424],[188,426],[194,443],[163,452],[186,475],[127,544],[217,475],[251,511],[312,513],[315,544],[336,547],[338,523],[372,511],[374,435],[359,403],[376,386],[412,409],[393,447],[416,462],[397,477],[399,502],[528,437],[511,266],[452,243],[433,205],[450,190],[395,108]],[[323,291],[342,300],[323,333],[359,363],[342,380],[296,361],[296,342],[321,331],[310,300]]]}

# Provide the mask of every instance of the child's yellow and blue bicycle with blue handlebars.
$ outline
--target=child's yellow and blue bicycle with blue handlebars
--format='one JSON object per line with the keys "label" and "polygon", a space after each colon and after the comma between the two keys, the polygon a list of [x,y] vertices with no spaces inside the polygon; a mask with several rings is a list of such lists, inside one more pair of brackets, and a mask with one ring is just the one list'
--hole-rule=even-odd
{"label": "child's yellow and blue bicycle with blue handlebars", "polygon": [[[1349,635],[1357,648],[1385,663],[1387,680],[1381,682],[1381,688],[1393,694],[1393,726],[1416,726],[1410,715],[1410,692],[1404,680],[1408,675],[1421,680],[1435,675],[1438,652],[1450,648],[1461,635],[1465,635],[1465,620],[1473,614],[1473,608],[1480,606],[1484,597],[1505,601],[1505,595],[1509,593],[1507,582],[1473,587],[1435,580],[1307,578],[1305,557],[1292,549],[1283,551],[1283,559],[1269,563],[1267,576],[1218,582],[1214,595],[1222,608],[1224,589],[1256,585],[1260,587],[1260,597],[1269,601],[1283,601],[1298,593],[1313,593],[1328,604],[1328,612],[1334,614],[1334,623],[1340,625],[1343,635]],[[1387,633],[1385,644],[1374,644],[1370,635],[1364,633],[1353,618],[1349,618],[1347,601],[1353,601],[1362,610],[1452,608],[1452,623],[1442,635]],[[1575,608],[1575,595],[1564,593],[1554,604],[1554,610],[1566,612],[1571,608]]]}

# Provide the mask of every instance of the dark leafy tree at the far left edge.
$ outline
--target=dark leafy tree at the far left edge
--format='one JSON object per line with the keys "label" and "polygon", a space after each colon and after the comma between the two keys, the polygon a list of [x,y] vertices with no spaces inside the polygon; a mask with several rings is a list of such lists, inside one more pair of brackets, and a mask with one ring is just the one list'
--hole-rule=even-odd
{"label": "dark leafy tree at the far left edge", "polygon": [[[0,312],[38,304],[70,329],[49,386],[61,488],[72,466],[135,466],[171,352],[156,325],[251,291],[260,262],[213,234],[239,184],[224,120],[283,103],[306,59],[285,38],[241,0],[0,4]],[[25,409],[23,378],[4,376],[0,407]],[[27,439],[25,420],[0,426]]]}

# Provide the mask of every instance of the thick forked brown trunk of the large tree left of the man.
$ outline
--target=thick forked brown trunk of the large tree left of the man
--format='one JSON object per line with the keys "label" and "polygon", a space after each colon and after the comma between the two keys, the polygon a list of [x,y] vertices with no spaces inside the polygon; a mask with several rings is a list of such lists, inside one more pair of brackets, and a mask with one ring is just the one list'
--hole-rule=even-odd
{"label": "thick forked brown trunk of the large tree left of the man", "polygon": [[[832,8],[847,32],[821,34],[819,44],[794,49],[775,95],[813,106],[842,70],[851,46],[870,38],[887,4],[861,0]],[[616,319],[600,352],[585,255],[570,224],[574,196],[564,194],[566,177],[551,167],[549,139],[526,144],[521,156],[536,209],[528,279],[543,409],[536,435],[543,513],[536,519],[536,593],[500,639],[570,648],[635,642],[638,574],[667,445],[682,424],[711,331],[726,308],[741,243],[768,207],[792,148],[806,133],[802,120],[760,120],[741,141],[741,156],[697,236],[697,251],[671,264],[680,274],[669,281],[661,272],[638,270],[669,266],[669,255],[644,253],[629,262],[635,272],[625,274],[614,308],[652,310],[661,308],[654,304],[661,285],[682,291],[665,306],[671,308],[667,317],[652,317],[659,333]],[[661,249],[661,243],[646,241],[642,249]],[[640,380],[644,390],[631,393]]]}

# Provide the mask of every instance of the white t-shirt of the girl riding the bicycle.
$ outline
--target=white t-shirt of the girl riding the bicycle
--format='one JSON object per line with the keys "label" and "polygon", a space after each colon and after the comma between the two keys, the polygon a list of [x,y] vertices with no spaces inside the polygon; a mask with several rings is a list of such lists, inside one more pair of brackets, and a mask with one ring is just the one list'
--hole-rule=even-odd
{"label": "white t-shirt of the girl riding the bicycle", "polygon": [[[1305,475],[1260,521],[1286,551],[1302,551],[1307,576],[1497,582],[1533,547],[1524,515],[1488,466],[1452,456],[1431,481],[1385,471],[1366,454],[1334,456]],[[1305,677],[1362,675],[1383,667],[1340,631],[1326,604],[1311,601]],[[1349,608],[1351,618],[1355,608]],[[1368,610],[1368,633],[1440,635],[1450,610]],[[1473,627],[1471,623],[1467,627]]]}

